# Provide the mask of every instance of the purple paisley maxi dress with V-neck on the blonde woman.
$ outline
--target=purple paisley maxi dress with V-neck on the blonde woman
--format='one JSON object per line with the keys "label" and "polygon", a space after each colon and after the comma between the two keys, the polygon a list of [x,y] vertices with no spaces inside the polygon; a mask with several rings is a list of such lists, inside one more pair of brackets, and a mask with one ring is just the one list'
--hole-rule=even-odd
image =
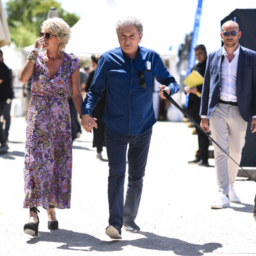
{"label": "purple paisley maxi dress with V-neck on the blonde woman", "polygon": [[77,68],[79,60],[64,53],[50,80],[43,54],[38,53],[26,122],[24,208],[70,208],[72,140],[67,97]]}

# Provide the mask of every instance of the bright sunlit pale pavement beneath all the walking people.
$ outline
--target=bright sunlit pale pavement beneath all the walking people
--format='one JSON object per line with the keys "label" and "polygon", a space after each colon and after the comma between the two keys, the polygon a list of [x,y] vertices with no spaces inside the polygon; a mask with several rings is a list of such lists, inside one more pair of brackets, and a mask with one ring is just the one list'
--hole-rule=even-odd
{"label": "bright sunlit pale pavement beneath all the walking people", "polygon": [[23,233],[29,211],[23,209],[25,121],[11,123],[9,153],[0,155],[0,254],[5,255],[256,255],[256,223],[252,212],[256,184],[237,178],[242,203],[210,208],[216,196],[211,167],[191,166],[197,137],[185,123],[154,125],[136,223],[140,233],[122,230],[122,240],[105,235],[108,225],[105,149],[96,159],[92,135],[83,132],[73,146],[72,208],[56,210],[59,230],[47,229],[44,209],[39,236]]}

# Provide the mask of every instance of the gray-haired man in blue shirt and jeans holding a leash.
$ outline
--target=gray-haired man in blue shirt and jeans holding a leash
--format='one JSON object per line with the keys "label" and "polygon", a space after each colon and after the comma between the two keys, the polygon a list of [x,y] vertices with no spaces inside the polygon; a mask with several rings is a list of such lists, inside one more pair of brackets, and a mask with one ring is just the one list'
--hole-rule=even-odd
{"label": "gray-haired man in blue shirt and jeans holding a leash", "polygon": [[[152,102],[154,78],[168,94],[179,86],[164,66],[159,54],[139,47],[143,36],[142,23],[135,18],[117,22],[120,47],[99,59],[94,83],[82,106],[81,124],[87,132],[97,128],[91,112],[106,87],[105,141],[109,159],[109,226],[106,234],[120,239],[121,227],[139,232],[135,218],[139,209],[143,177],[147,163],[152,126],[156,122]],[[165,86],[166,85],[166,86]],[[160,96],[165,98],[160,92]],[[124,203],[124,177],[128,149],[128,188]]]}

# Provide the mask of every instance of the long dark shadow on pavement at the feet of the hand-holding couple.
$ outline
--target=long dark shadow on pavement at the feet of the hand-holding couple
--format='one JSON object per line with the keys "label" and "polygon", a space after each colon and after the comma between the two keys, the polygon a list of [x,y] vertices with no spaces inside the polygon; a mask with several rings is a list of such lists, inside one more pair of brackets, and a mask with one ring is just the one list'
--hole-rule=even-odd
{"label": "long dark shadow on pavement at the feet of the hand-holding couple", "polygon": [[54,230],[49,232],[39,232],[39,237],[31,238],[28,244],[38,242],[56,242],[64,243],[57,247],[58,249],[73,251],[98,251],[98,252],[115,252],[122,251],[124,246],[130,245],[138,248],[144,248],[155,251],[173,251],[182,256],[198,256],[207,252],[221,248],[219,243],[207,243],[204,245],[191,244],[176,238],[162,237],[150,232],[140,232],[139,237],[135,240],[113,240],[102,241],[89,234],[73,232],[70,230]]}

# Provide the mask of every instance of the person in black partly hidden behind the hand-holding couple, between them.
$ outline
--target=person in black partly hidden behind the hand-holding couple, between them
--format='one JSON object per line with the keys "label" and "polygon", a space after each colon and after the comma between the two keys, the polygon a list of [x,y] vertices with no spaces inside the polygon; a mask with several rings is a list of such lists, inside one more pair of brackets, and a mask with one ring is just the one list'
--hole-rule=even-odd
{"label": "person in black partly hidden behind the hand-holding couple, between them", "polygon": [[[87,92],[91,86],[91,84],[94,81],[94,73],[95,69],[97,68],[99,57],[97,55],[92,55],[91,60],[92,60],[92,67],[94,70],[90,72],[89,77],[87,79],[85,91]],[[106,88],[103,91],[103,96],[102,98],[98,101],[97,105],[95,106],[92,115],[93,117],[97,118],[97,124],[98,128],[95,129],[93,128],[93,147],[97,148],[97,155],[96,158],[102,159],[102,149],[103,147],[106,147],[105,143],[105,125],[102,122],[102,117],[105,114],[105,105],[106,105]]]}

